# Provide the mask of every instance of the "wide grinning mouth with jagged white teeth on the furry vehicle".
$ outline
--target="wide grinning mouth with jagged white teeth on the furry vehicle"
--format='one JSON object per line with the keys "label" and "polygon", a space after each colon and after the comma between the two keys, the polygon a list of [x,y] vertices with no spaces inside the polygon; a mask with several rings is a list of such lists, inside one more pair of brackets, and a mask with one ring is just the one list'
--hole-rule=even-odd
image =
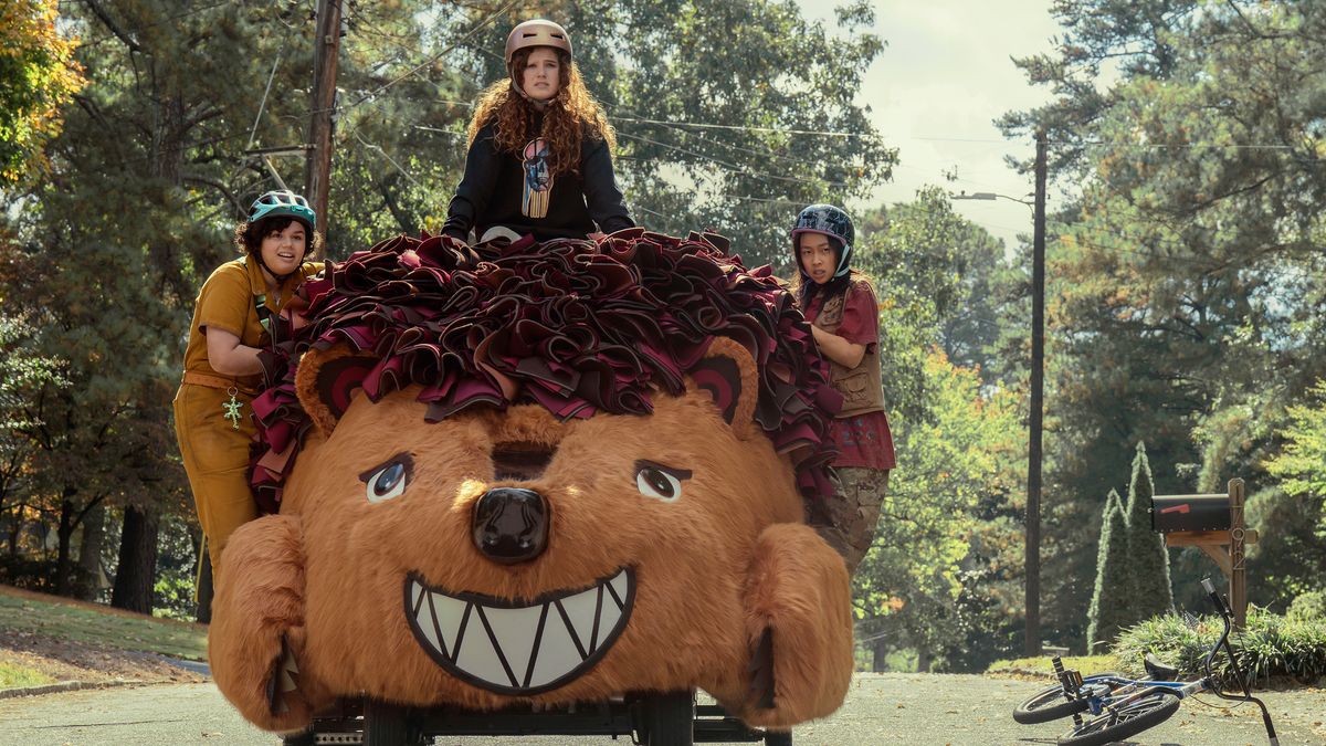
{"label": "wide grinning mouth with jagged white teeth on the furry vehicle", "polygon": [[583,674],[626,628],[634,600],[631,568],[533,601],[446,593],[418,573],[404,583],[406,617],[432,660],[501,694],[538,694]]}

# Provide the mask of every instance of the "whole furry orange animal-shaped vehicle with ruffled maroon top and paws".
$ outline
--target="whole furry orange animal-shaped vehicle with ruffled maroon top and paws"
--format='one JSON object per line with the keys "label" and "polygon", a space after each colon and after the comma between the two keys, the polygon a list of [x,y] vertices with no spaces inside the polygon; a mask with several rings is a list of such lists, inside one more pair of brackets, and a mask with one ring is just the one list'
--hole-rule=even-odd
{"label": "whole furry orange animal-shaped vehicle with ruffled maroon top and paws", "polygon": [[768,268],[712,235],[426,235],[306,287],[255,404],[278,512],[236,531],[212,609],[245,718],[362,697],[338,717],[386,743],[578,708],[602,722],[577,733],[691,743],[695,689],[770,741],[842,704],[847,575],[802,524],[835,394]]}

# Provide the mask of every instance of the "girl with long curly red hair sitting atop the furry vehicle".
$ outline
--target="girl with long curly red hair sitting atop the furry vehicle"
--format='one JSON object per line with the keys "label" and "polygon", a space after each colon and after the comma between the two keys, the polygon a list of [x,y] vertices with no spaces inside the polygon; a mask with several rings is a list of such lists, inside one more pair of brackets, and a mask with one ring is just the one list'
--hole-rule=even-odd
{"label": "girl with long curly red hair sitting atop the furry vehicle", "polygon": [[509,77],[469,122],[465,175],[442,232],[460,240],[585,238],[630,228],[613,173],[613,126],[585,89],[566,29],[525,21],[507,37]]}

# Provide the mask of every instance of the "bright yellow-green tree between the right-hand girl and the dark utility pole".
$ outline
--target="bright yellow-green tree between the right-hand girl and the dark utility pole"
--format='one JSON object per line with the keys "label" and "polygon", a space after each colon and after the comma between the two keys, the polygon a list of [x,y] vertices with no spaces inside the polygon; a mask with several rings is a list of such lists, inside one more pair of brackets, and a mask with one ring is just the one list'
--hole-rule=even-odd
{"label": "bright yellow-green tree between the right-hand girl and the dark utility pole", "polygon": [[937,349],[922,370],[931,418],[894,418],[906,467],[891,475],[857,571],[858,615],[891,648],[967,670],[1006,650],[1004,628],[1021,609],[1012,503],[1025,451],[1014,397],[984,396],[976,372]]}

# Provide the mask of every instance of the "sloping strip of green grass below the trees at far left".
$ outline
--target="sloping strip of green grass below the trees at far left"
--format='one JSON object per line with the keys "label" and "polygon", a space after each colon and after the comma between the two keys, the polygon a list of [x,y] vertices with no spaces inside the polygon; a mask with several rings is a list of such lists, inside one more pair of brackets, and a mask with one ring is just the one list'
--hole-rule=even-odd
{"label": "sloping strip of green grass below the trees at far left", "polygon": [[[207,660],[207,628],[0,585],[0,631]],[[0,681],[5,673],[0,670]],[[3,688],[3,686],[0,686]]]}

